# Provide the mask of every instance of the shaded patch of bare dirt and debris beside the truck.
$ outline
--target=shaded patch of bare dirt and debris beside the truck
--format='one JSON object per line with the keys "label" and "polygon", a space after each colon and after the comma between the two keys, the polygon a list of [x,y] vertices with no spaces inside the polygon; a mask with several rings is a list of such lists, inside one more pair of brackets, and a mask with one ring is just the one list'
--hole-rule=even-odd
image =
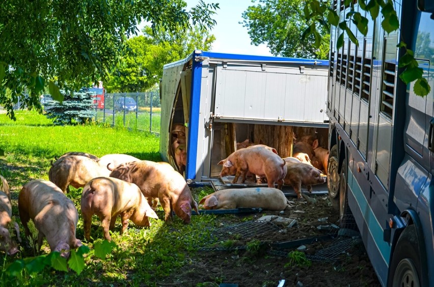
{"label": "shaded patch of bare dirt and debris beside the truck", "polygon": [[[327,195],[311,198],[316,203],[292,199],[292,207],[283,212],[218,215],[220,227],[212,231],[209,245],[199,248],[182,272],[157,286],[278,286],[280,280],[285,280],[282,286],[380,286],[359,233],[352,230],[355,224],[348,219],[340,224]],[[271,223],[255,226],[252,222],[263,215],[293,218],[296,223],[290,228]],[[268,231],[261,231],[259,225]],[[282,244],[294,240],[305,242],[289,248]],[[290,253],[300,245],[305,246],[304,256]]]}

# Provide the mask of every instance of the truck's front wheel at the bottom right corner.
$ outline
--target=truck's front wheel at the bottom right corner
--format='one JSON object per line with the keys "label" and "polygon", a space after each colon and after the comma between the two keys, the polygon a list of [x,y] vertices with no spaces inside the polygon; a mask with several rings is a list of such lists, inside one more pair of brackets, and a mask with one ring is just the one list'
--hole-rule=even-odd
{"label": "truck's front wheel at the bottom right corner", "polygon": [[[388,286],[421,286],[420,254],[416,228],[409,225],[402,232],[393,251]],[[426,283],[426,282],[425,282]]]}

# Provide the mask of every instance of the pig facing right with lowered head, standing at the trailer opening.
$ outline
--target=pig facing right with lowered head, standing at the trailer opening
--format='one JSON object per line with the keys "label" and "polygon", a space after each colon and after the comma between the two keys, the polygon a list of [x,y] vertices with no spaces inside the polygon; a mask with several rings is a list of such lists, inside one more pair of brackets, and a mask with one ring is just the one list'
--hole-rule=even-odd
{"label": "pig facing right with lowered head, standing at the trailer opening", "polygon": [[291,185],[298,198],[302,198],[302,185],[312,192],[312,185],[325,182],[321,171],[303,162],[286,162],[287,173],[284,179],[286,185]]}

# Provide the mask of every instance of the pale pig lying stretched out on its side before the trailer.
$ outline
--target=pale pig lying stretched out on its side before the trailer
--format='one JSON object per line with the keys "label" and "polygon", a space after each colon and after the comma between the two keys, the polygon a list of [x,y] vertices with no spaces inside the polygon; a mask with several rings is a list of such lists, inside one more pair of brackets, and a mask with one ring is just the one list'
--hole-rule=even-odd
{"label": "pale pig lying stretched out on its side before the trailer", "polygon": [[262,208],[284,210],[288,204],[283,192],[277,188],[250,187],[223,189],[204,196],[199,204],[204,209]]}

